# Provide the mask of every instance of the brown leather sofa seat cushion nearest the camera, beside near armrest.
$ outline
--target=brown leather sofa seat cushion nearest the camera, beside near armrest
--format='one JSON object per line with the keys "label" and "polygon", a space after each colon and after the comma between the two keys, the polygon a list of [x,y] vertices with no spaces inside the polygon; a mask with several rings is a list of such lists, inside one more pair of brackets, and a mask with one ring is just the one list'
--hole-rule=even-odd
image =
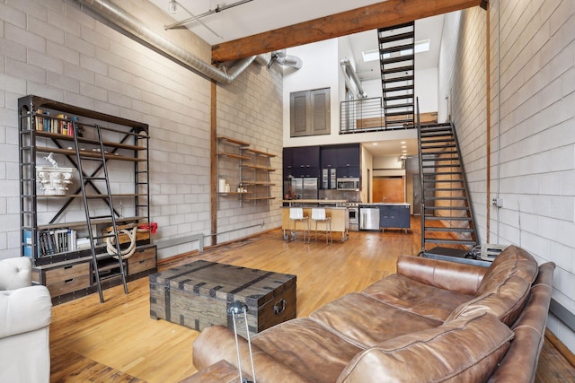
{"label": "brown leather sofa seat cushion nearest the camera, beside near armrest", "polygon": [[291,319],[270,327],[254,335],[252,344],[316,383],[333,383],[363,350],[310,318]]}

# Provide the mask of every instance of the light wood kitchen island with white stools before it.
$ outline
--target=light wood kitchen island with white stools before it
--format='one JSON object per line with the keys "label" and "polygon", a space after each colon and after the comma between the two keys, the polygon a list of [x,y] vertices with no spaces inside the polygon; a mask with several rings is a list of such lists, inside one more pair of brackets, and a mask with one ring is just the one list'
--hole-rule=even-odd
{"label": "light wood kitchen island with white stools before it", "polygon": [[[284,202],[299,202],[302,205],[312,204],[310,201],[315,201],[314,204],[320,204],[326,201],[336,201],[336,200],[304,200],[304,199],[294,199],[285,200]],[[304,202],[306,201],[306,202]],[[320,201],[320,202],[318,202]],[[338,201],[339,202],[339,201]],[[345,202],[345,201],[341,201]],[[336,202],[332,202],[335,205]],[[327,205],[327,204],[326,204]],[[321,206],[325,208],[325,215],[332,218],[332,233],[341,233],[341,242],[348,239],[349,237],[349,215],[347,207],[337,207],[337,206]],[[312,206],[304,208],[304,216],[309,217],[309,226],[305,222],[296,221],[291,222],[289,220],[289,207],[282,207],[281,211],[281,229],[284,232],[284,239],[289,239],[289,237],[295,235],[292,231],[315,231],[315,222],[312,221]],[[325,222],[317,222],[317,231],[325,232]],[[294,229],[295,228],[295,229]]]}

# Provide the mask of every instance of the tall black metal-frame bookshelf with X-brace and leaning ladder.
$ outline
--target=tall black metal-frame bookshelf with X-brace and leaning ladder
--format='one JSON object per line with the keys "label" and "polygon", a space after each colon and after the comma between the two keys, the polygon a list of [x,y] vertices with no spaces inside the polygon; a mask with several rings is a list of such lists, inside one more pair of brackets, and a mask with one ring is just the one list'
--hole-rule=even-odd
{"label": "tall black metal-frame bookshelf with X-brace and leaning ladder", "polygon": [[[67,229],[77,231],[78,235],[82,233],[84,237],[85,231],[101,231],[111,222],[120,222],[130,226],[150,222],[147,124],[34,95],[20,98],[18,108],[21,148],[19,170],[22,256],[31,257],[34,274],[42,274],[45,267],[52,268],[60,265],[64,267],[68,263],[82,264],[89,262],[92,258],[89,257],[92,254],[92,246],[90,248],[70,246],[69,248],[74,249],[42,253],[39,248],[40,232]],[[38,160],[45,153],[60,154],[65,159],[66,167],[83,172],[80,178],[84,179],[84,186],[90,188],[88,193],[85,190],[83,192],[83,187],[76,189],[77,179],[75,179],[74,184],[70,184],[74,187],[70,188],[69,194],[40,194],[37,168],[40,167]],[[99,160],[100,164],[94,161],[94,165],[89,170],[82,170],[78,157],[87,158],[88,161]],[[100,174],[106,168],[112,169],[114,177],[111,178],[119,180],[124,177],[122,172],[127,168],[126,166],[118,168],[119,162],[133,163],[133,175],[128,178],[128,183],[133,184],[133,193],[130,193],[128,189],[111,193],[109,186],[107,191],[102,189],[101,179],[104,179],[102,178],[104,176]],[[49,168],[49,165],[43,168]],[[107,184],[111,178],[106,172]],[[122,179],[122,182],[125,181]],[[80,183],[82,184],[82,181]],[[78,221],[84,212],[81,212],[76,205],[71,206],[78,198],[92,200],[98,206],[107,206],[106,208],[112,212],[111,219],[96,217]],[[117,201],[120,201],[122,208],[128,208],[129,216],[123,216],[120,208],[114,206],[114,202]],[[73,209],[73,212],[67,215],[70,209]],[[75,220],[67,221],[72,217],[75,217]],[[88,222],[91,223],[89,228]],[[98,238],[98,243],[94,246],[98,261],[110,258],[103,237]],[[149,237],[137,240],[137,247],[147,245],[152,246]],[[61,248],[58,246],[58,249]],[[115,265],[119,266],[118,262]],[[93,268],[94,266],[91,265],[91,273],[94,273]],[[150,272],[155,272],[155,268]],[[130,280],[135,279],[132,275],[129,276]],[[40,280],[42,279],[43,277],[40,277]],[[106,281],[105,284],[109,286],[110,283]],[[119,283],[118,278],[114,283]],[[87,290],[93,292],[94,286],[91,285]],[[69,299],[74,299],[73,292],[66,294],[66,297],[68,295],[72,297]],[[57,300],[69,300],[66,297],[57,297]]]}

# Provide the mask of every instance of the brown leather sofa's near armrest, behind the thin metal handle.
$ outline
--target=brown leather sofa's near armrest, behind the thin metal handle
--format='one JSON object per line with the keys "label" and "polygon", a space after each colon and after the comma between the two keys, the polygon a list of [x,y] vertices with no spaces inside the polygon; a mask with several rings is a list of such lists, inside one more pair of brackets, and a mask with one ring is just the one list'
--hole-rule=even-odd
{"label": "brown leather sofa's near armrest, behind the thin metal handle", "polygon": [[[243,337],[238,336],[238,343],[242,370],[251,376],[252,364],[250,362],[248,342]],[[311,383],[311,380],[305,379],[295,370],[272,358],[255,344],[252,344],[252,354],[257,380],[282,383]],[[194,341],[192,363],[198,370],[202,370],[222,359],[237,368],[234,332],[225,326],[204,328]]]}

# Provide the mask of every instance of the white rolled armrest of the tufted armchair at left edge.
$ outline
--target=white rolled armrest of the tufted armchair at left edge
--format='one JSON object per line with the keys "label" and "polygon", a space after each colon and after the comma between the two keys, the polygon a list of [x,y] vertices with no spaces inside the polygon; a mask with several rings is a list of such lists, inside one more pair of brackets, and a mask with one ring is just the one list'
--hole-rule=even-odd
{"label": "white rolled armrest of the tufted armchair at left edge", "polygon": [[49,326],[52,299],[46,286],[0,292],[0,338]]}

